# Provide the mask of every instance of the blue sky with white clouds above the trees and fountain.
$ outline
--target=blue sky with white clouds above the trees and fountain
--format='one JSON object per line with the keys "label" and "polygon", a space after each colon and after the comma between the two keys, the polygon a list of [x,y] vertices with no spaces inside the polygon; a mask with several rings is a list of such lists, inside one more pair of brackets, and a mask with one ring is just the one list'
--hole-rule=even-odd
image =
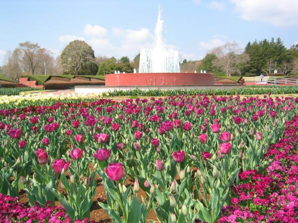
{"label": "blue sky with white clouds above the trees and fountain", "polygon": [[0,65],[25,41],[58,56],[78,39],[95,56],[133,59],[153,43],[158,5],[166,44],[181,60],[232,41],[298,44],[298,0],[0,0]]}

